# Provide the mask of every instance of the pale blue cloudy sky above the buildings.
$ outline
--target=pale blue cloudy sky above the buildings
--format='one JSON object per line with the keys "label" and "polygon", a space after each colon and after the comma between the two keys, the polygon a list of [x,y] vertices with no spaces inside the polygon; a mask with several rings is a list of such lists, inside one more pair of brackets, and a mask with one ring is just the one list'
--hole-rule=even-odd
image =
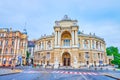
{"label": "pale blue cloudy sky above the buildings", "polygon": [[120,0],[0,0],[0,28],[26,28],[29,40],[52,34],[64,15],[120,49]]}

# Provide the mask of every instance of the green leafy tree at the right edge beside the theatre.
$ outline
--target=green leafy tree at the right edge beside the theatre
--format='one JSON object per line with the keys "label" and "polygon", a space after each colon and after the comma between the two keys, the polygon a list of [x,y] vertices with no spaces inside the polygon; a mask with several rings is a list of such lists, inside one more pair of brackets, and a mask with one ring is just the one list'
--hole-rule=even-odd
{"label": "green leafy tree at the right edge beside the theatre", "polygon": [[112,64],[118,65],[120,67],[120,54],[117,47],[111,46],[106,49],[107,55],[114,56],[114,60],[111,61]]}

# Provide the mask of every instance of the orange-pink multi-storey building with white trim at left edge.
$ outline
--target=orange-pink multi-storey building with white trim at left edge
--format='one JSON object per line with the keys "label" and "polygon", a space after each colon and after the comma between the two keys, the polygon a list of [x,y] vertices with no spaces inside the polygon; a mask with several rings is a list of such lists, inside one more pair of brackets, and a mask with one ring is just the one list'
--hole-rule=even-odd
{"label": "orange-pink multi-storey building with white trim at left edge", "polygon": [[26,51],[26,32],[13,31],[12,28],[0,28],[0,66],[25,64]]}

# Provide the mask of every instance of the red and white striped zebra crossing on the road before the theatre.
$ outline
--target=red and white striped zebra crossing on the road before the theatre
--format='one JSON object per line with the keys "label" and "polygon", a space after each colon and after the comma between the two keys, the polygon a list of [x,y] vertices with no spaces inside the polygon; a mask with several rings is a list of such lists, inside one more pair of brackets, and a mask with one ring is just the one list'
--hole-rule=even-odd
{"label": "red and white striped zebra crossing on the road before the theatre", "polygon": [[75,75],[99,75],[95,72],[72,72],[72,71],[52,71],[52,73],[75,74]]}

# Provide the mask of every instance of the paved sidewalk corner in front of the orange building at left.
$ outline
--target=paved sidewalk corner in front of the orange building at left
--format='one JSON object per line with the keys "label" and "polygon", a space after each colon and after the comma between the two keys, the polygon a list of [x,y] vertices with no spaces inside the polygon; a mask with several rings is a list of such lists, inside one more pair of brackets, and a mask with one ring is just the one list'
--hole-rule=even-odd
{"label": "paved sidewalk corner in front of the orange building at left", "polygon": [[11,70],[11,69],[0,68],[0,76],[20,73],[20,72],[22,72],[22,70],[18,70],[18,69]]}

